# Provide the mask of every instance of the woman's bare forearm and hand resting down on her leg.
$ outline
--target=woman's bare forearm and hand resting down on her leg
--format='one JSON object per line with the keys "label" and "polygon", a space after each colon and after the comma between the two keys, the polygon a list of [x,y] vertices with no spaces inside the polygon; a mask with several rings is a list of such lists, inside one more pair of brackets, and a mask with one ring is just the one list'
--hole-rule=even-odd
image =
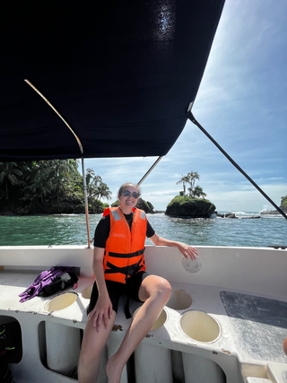
{"label": "woman's bare forearm and hand resting down on her leg", "polygon": [[104,269],[102,266],[104,254],[104,248],[93,249],[92,271],[95,275],[96,283],[98,286],[99,298],[94,309],[91,310],[88,319],[92,320],[92,326],[97,327],[98,331],[100,331],[100,324],[102,320],[104,321],[105,327],[108,327],[108,321],[111,318],[113,309],[109,299],[109,293],[104,276]]}

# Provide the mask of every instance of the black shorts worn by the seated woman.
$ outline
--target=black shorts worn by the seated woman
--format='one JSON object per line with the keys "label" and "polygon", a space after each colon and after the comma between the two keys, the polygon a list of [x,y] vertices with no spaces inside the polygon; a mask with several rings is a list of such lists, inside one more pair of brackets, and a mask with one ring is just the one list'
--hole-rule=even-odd
{"label": "black shorts worn by the seated woman", "polygon": [[[107,289],[109,292],[109,299],[112,303],[113,310],[117,312],[118,300],[122,295],[126,295],[128,298],[141,302],[138,298],[138,292],[140,290],[143,279],[149,276],[150,274],[145,271],[140,271],[135,275],[131,276],[126,280],[126,284],[118,283],[114,281],[106,281]],[[90,305],[87,309],[87,315],[95,307],[97,300],[99,298],[98,286],[97,283],[93,283],[93,288],[91,292]]]}

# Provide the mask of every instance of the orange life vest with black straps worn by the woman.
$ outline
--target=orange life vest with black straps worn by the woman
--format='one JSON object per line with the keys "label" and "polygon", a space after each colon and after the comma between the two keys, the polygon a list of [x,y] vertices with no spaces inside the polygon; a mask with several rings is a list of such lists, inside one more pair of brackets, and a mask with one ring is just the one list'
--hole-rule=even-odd
{"label": "orange life vest with black straps worn by the woman", "polygon": [[105,209],[109,214],[110,231],[103,260],[105,279],[126,283],[130,276],[145,270],[144,242],[147,220],[143,210],[133,209],[134,217],[130,230],[126,218],[118,207]]}

